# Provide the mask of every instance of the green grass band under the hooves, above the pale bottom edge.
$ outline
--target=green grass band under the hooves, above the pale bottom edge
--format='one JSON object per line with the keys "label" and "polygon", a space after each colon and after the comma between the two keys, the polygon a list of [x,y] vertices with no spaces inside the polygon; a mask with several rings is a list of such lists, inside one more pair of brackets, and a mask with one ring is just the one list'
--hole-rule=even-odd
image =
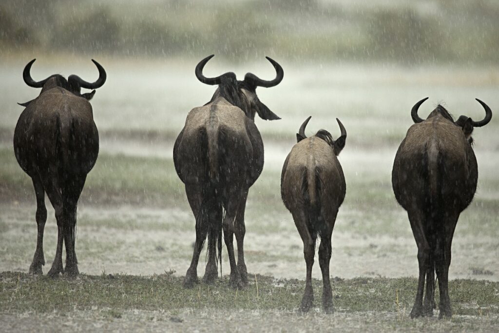
{"label": "green grass band under the hooves, above the pale bottom edge", "polygon": [[[109,308],[109,316],[119,318],[122,311],[203,309],[274,309],[294,310],[303,293],[304,282],[276,280],[268,276],[249,275],[246,289],[229,287],[228,278],[213,285],[199,284],[193,289],[182,286],[183,278],[166,273],[153,277],[129,275],[88,276],[76,280],[24,273],[0,273],[0,312],[88,310]],[[413,278],[355,278],[332,282],[337,311],[409,312],[416,292]],[[320,307],[322,282],[313,280],[315,306]],[[499,283],[476,280],[450,282],[454,314],[483,316],[499,313]],[[436,292],[438,295],[438,291]],[[438,296],[436,298],[438,302]]]}

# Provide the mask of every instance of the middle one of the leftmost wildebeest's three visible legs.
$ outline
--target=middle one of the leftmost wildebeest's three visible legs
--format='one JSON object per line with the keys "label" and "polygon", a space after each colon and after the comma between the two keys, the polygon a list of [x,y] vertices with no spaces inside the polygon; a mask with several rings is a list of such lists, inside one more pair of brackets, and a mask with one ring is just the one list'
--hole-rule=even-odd
{"label": "middle one of the leftmost wildebeest's three visible legs", "polygon": [[[47,177],[49,178],[49,177]],[[53,179],[53,178],[52,178]],[[64,274],[62,267],[62,245],[64,242],[64,214],[62,209],[62,196],[61,192],[51,180],[44,183],[44,188],[47,192],[48,199],[55,210],[55,220],[57,221],[57,247],[55,249],[55,257],[52,267],[48,271],[48,276],[55,278],[59,273]]]}

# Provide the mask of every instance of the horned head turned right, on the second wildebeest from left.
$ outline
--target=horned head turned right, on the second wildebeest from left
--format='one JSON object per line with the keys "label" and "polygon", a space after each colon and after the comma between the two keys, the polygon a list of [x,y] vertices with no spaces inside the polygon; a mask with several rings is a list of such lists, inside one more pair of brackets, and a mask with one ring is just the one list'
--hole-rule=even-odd
{"label": "horned head turned right, on the second wildebeest from left", "polygon": [[229,103],[241,108],[246,115],[254,120],[255,113],[258,113],[260,118],[265,120],[280,119],[275,113],[270,111],[268,107],[260,102],[256,96],[256,87],[273,87],[282,81],[284,71],[282,67],[274,60],[266,57],[268,61],[274,66],[276,76],[273,80],[266,81],[258,78],[252,73],[247,73],[243,81],[238,81],[236,74],[228,72],[217,77],[205,77],[203,75],[203,68],[214,55],[210,55],[201,60],[196,66],[196,77],[203,83],[210,85],[218,85],[211,102],[217,97],[224,97]]}

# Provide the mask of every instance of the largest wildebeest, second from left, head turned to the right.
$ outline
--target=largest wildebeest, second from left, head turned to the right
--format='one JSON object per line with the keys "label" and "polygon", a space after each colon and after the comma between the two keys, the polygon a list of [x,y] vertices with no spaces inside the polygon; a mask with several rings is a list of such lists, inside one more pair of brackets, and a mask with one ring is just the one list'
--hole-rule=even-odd
{"label": "largest wildebeest, second from left, head turned to the right", "polygon": [[[175,169],[185,184],[187,198],[196,218],[196,243],[185,287],[198,281],[197,266],[208,235],[208,263],[204,281],[218,277],[222,263],[222,230],[231,265],[230,284],[238,288],[248,281],[244,260],[245,207],[248,190],[263,168],[263,142],[254,124],[255,113],[262,119],[280,119],[256,96],[256,87],[273,87],[284,75],[281,66],[267,57],[276,77],[265,81],[247,73],[243,81],[229,72],[217,77],[203,75],[210,55],[196,66],[197,78],[218,85],[210,102],[194,108],[173,148]],[[233,235],[238,242],[238,263]],[[218,245],[218,258],[216,256]]]}

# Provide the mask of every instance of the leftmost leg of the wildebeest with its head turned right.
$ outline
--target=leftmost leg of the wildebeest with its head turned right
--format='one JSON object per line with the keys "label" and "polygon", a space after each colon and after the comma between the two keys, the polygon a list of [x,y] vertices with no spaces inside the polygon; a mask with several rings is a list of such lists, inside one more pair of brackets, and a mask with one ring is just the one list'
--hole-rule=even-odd
{"label": "leftmost leg of the wildebeest with its head turned right", "polygon": [[196,218],[196,243],[194,244],[191,266],[189,266],[184,279],[184,287],[192,288],[193,285],[198,282],[198,262],[208,232],[208,219],[200,214],[203,201],[202,189],[199,186],[186,185],[186,194],[194,217]]}

